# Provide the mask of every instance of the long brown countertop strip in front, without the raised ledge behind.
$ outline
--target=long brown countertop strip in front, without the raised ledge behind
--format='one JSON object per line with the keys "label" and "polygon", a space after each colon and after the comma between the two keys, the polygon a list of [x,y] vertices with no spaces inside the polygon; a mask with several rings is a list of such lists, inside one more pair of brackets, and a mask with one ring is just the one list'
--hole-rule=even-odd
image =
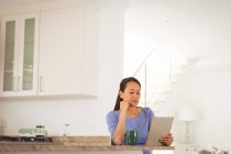
{"label": "long brown countertop strip in front, without the raised ledge behind", "polygon": [[143,150],[174,150],[174,146],[145,146],[145,145],[80,146],[75,143],[40,143],[40,142],[0,143],[0,152],[143,151]]}

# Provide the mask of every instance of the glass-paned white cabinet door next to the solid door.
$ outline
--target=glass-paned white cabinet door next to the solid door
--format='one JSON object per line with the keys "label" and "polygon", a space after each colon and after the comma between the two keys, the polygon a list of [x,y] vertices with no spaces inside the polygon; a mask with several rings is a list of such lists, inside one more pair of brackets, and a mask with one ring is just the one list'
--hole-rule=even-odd
{"label": "glass-paned white cabinet door next to the solid door", "polygon": [[19,89],[20,96],[37,94],[37,54],[38,54],[38,14],[20,18],[20,57]]}

